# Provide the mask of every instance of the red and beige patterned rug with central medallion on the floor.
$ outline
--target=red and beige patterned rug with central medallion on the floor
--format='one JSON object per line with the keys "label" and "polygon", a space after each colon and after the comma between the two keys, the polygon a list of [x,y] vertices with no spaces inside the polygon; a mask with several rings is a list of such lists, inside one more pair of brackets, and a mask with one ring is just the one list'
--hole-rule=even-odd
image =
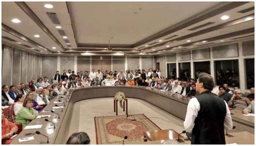
{"label": "red and beige patterned rug with central medallion on the floor", "polygon": [[95,117],[97,145],[121,145],[125,136],[128,137],[125,143],[143,142],[144,131],[161,130],[144,114],[133,116],[138,120],[132,121],[131,117],[126,119],[126,115]]}

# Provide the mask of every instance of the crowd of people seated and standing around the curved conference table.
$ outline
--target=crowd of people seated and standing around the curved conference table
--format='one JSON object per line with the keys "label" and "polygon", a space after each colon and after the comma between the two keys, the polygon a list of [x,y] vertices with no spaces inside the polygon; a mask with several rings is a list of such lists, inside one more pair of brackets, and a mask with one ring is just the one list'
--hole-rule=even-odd
{"label": "crowd of people seated and standing around the curved conference table", "polygon": [[[27,124],[35,119],[39,112],[57,95],[63,95],[69,88],[76,87],[97,87],[97,86],[118,86],[118,85],[138,85],[150,88],[157,88],[159,90],[170,91],[172,93],[180,94],[185,97],[195,97],[199,95],[196,92],[196,83],[193,78],[190,80],[181,81],[180,78],[174,80],[173,78],[165,78],[161,76],[159,69],[153,70],[123,70],[120,72],[95,70],[80,71],[75,74],[71,70],[63,70],[63,73],[56,72],[53,78],[40,77],[37,82],[31,80],[28,83],[18,85],[3,85],[2,86],[2,142],[10,143],[10,137],[17,130],[15,125],[11,124],[4,117],[3,109],[10,104],[14,104],[15,122],[22,123],[25,128]],[[254,88],[251,88],[251,94],[246,97],[242,96],[241,90],[234,87],[234,93],[229,89],[228,84],[217,87],[214,82],[212,94],[222,98],[226,103],[244,114],[254,114]],[[9,127],[6,126],[10,123]],[[3,128],[4,127],[4,128]],[[80,133],[81,134],[81,133]]]}

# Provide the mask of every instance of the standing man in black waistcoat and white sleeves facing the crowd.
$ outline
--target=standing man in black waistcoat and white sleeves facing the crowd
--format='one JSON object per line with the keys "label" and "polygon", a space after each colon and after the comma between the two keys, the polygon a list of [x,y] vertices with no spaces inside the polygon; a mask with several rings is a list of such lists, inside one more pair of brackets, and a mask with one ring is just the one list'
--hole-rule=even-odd
{"label": "standing man in black waistcoat and white sleeves facing the crowd", "polygon": [[226,144],[225,129],[232,129],[232,119],[227,103],[212,95],[214,86],[210,74],[200,73],[196,82],[199,96],[188,103],[184,127],[192,132],[191,144]]}

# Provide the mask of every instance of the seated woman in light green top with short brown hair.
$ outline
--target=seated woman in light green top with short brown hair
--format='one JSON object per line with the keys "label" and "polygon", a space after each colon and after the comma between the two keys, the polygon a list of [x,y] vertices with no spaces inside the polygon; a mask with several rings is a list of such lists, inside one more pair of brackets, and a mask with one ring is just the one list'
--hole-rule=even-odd
{"label": "seated woman in light green top with short brown hair", "polygon": [[38,112],[33,108],[33,99],[26,98],[22,109],[18,112],[16,116],[16,123],[22,123],[22,129],[24,129],[31,120],[35,119]]}

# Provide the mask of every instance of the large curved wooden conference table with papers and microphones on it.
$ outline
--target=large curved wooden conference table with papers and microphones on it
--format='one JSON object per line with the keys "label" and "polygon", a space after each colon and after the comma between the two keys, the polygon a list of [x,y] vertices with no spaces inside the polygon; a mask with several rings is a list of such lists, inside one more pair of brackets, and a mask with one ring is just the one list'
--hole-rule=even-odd
{"label": "large curved wooden conference table with papers and microphones on it", "polygon": [[[58,102],[58,100],[65,101],[65,99],[59,99],[59,97],[55,97],[52,101],[50,101],[50,103],[46,105],[44,110],[42,110],[42,112],[38,114],[39,116],[50,115],[50,117],[47,119],[55,123],[55,129],[53,128],[52,123],[45,121],[45,118],[36,118],[32,120],[28,124],[28,126],[42,125],[42,127],[34,129],[24,129],[17,137],[13,139],[11,144],[45,144],[47,138],[42,135],[26,135],[27,133],[34,133],[35,131],[40,131],[41,134],[49,137],[49,144],[64,144],[69,137],[68,134],[70,133],[70,131],[68,132],[67,129],[69,129],[70,127],[74,103],[86,99],[114,97],[117,92],[123,92],[128,98],[144,100],[182,120],[185,120],[189,99],[172,95],[171,92],[165,92],[158,89],[151,89],[148,87],[140,86],[73,88],[69,89],[68,95],[64,97],[67,98],[67,102],[65,102],[63,112],[61,112],[60,108],[54,109],[55,112],[60,115],[60,119],[58,119],[58,115],[55,113],[49,111],[44,112],[45,110],[52,110],[53,107],[56,108],[55,104],[63,106],[63,103],[54,103],[54,101]],[[111,108],[109,110],[113,109]],[[234,110],[231,117],[233,120],[233,125],[236,126],[236,128],[233,130],[229,130],[229,133],[247,131],[254,134],[254,116],[244,116],[241,112]],[[19,142],[20,138],[28,138],[32,136],[34,138],[33,140]]]}

